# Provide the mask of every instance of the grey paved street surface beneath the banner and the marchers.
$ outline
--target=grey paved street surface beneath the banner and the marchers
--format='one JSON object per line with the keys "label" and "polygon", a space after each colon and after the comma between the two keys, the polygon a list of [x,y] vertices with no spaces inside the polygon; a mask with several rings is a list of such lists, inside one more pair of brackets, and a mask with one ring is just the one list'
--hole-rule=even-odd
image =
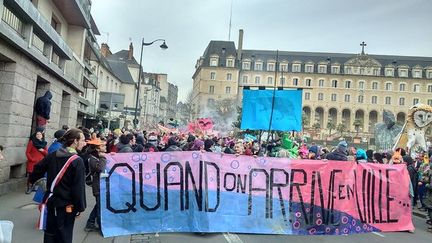
{"label": "grey paved street surface beneath the banner and the marchers", "polygon": [[[87,188],[87,195],[91,192]],[[21,191],[11,192],[0,197],[0,219],[11,220],[14,222],[13,242],[42,242],[43,234],[35,230],[35,223],[38,217],[36,205],[32,204],[32,196],[24,194],[24,189]],[[93,197],[87,198],[89,209],[93,205]],[[161,233],[158,236],[155,234],[133,235],[115,238],[102,238],[99,234],[91,232],[87,233],[83,230],[85,221],[90,210],[86,212],[76,221],[74,229],[74,242],[80,243],[99,243],[99,242],[115,242],[115,243],[144,243],[144,242],[160,242],[160,243],[179,243],[179,242],[228,242],[228,243],[277,243],[277,242],[380,242],[380,243],[402,243],[415,242],[426,243],[431,242],[432,233],[427,231],[424,219],[414,216],[415,232],[412,233],[376,233],[376,234],[359,234],[350,236],[286,236],[286,235],[254,235],[254,234],[186,234],[186,233]]]}

